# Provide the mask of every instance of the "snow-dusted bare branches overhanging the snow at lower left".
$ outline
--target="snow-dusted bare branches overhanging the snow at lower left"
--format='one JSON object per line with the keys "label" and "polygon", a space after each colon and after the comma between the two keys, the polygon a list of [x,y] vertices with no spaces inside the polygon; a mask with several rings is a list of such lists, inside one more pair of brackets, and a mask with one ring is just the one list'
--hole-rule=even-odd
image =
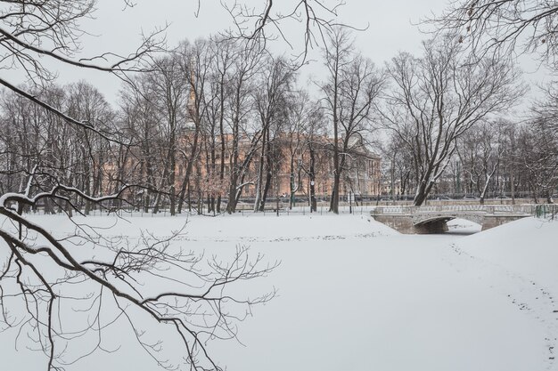
{"label": "snow-dusted bare branches overhanging the snow at lower left", "polygon": [[[266,275],[275,266],[258,268],[261,257],[248,258],[242,247],[230,263],[217,259],[204,263],[199,254],[182,252],[170,246],[169,239],[149,235],[133,246],[127,239],[103,238],[94,228],[76,224],[75,235],[55,237],[12,207],[20,203],[32,206],[45,198],[68,201],[63,192],[88,197],[62,185],[34,192],[35,181],[37,175],[32,173],[23,194],[8,193],[0,199],[0,214],[20,225],[0,230],[8,249],[3,254],[0,276],[4,314],[0,323],[4,328],[21,328],[29,342],[45,353],[48,370],[61,369],[103,351],[103,334],[124,323],[139,346],[161,367],[218,370],[206,342],[214,337],[234,338],[234,324],[243,319],[250,306],[273,296],[270,293],[245,300],[226,294],[226,287],[234,282]],[[101,202],[116,196],[90,200]],[[24,238],[18,236],[21,230]],[[93,247],[95,253],[85,257],[84,253]],[[145,285],[147,280],[164,289],[153,292]],[[81,287],[79,292],[76,285]],[[229,306],[229,300],[236,304]],[[157,327],[160,335],[153,332]],[[162,351],[166,343],[176,341],[174,336],[162,335],[165,328],[173,328],[180,339],[184,351],[179,359],[184,360],[168,359]],[[145,333],[147,329],[150,331]],[[91,335],[97,340],[91,342]]]}

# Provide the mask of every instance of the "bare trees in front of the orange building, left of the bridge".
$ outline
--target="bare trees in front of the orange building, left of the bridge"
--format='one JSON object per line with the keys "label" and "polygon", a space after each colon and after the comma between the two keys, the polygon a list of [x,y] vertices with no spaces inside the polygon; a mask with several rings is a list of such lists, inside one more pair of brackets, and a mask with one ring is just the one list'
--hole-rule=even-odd
{"label": "bare trees in front of the orange building, left of the bridge", "polygon": [[[352,164],[348,157],[370,138],[385,78],[345,30],[336,28],[329,42],[329,77],[316,82],[323,94],[317,99],[300,88],[290,60],[261,44],[226,38],[184,41],[154,60],[149,72],[122,86],[118,107],[86,82],[29,88],[50,107],[94,125],[94,133],[4,92],[2,190],[21,191],[35,169],[42,178],[33,186],[41,190],[61,181],[101,195],[126,184],[135,186],[124,195],[127,203],[145,212],[201,212],[205,203],[209,213],[234,213],[248,186],[256,189],[254,210],[264,210],[278,196],[271,192],[287,168],[291,200],[302,176],[314,181],[317,173],[330,174],[336,213],[341,180]],[[309,193],[316,197],[314,187]],[[91,210],[92,203],[74,201],[72,207]],[[45,202],[46,212],[68,209]]]}

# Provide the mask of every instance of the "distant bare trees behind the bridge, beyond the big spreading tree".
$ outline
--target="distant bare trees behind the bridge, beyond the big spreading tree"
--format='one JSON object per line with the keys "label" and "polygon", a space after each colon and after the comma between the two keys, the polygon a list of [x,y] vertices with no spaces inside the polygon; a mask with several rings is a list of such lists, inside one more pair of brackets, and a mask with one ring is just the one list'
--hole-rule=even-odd
{"label": "distant bare trees behind the bridge, beyond the big spreading tree", "polygon": [[[384,179],[393,179],[399,195],[416,185],[414,154],[398,136],[385,149]],[[395,148],[395,149],[394,149]],[[455,154],[434,182],[435,195],[477,198],[534,198],[554,202],[558,187],[558,135],[545,117],[534,114],[521,124],[483,119],[455,142]],[[389,161],[389,162],[388,162]],[[554,196],[553,196],[554,195]]]}

